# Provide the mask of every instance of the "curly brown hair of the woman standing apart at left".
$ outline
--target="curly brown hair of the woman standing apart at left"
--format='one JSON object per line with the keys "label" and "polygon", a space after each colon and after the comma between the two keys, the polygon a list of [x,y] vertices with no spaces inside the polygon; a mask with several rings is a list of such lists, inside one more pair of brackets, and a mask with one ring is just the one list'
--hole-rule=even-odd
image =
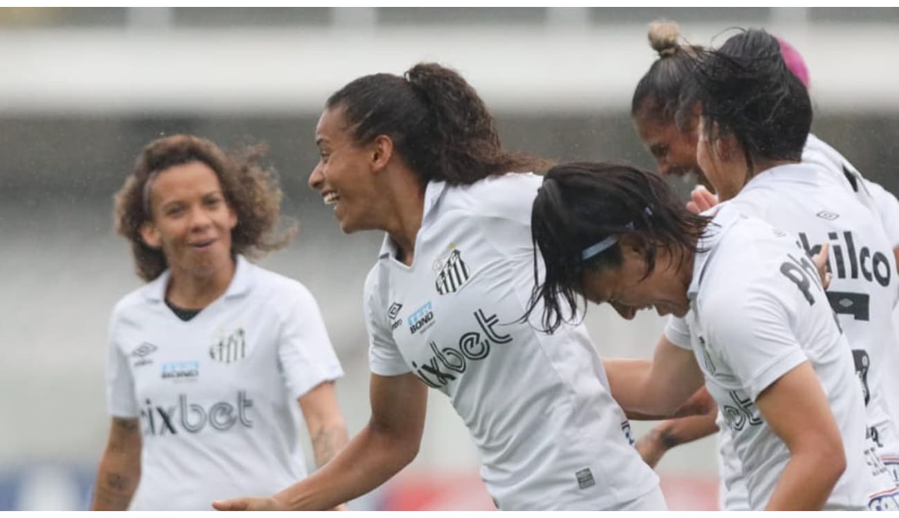
{"label": "curly brown hair of the woman standing apart at left", "polygon": [[274,170],[261,164],[267,151],[260,144],[226,152],[208,139],[191,135],[165,136],[146,145],[114,197],[116,232],[131,243],[138,277],[149,282],[168,268],[163,251],[144,242],[140,227],[153,218],[148,195],[156,175],[184,163],[205,163],[218,176],[227,204],[237,215],[231,231],[232,254],[260,257],[286,245],[297,225],[281,233],[275,230],[282,193]]}

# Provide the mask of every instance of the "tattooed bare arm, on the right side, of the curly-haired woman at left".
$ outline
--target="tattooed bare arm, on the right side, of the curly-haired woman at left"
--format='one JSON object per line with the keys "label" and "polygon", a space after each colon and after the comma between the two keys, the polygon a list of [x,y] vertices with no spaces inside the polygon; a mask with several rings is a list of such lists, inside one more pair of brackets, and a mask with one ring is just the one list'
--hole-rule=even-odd
{"label": "tattooed bare arm, on the right side, of the curly-haired woman at left", "polygon": [[321,468],[350,440],[343,414],[337,406],[334,382],[324,382],[308,391],[299,399],[299,408],[309,428],[316,466]]}

